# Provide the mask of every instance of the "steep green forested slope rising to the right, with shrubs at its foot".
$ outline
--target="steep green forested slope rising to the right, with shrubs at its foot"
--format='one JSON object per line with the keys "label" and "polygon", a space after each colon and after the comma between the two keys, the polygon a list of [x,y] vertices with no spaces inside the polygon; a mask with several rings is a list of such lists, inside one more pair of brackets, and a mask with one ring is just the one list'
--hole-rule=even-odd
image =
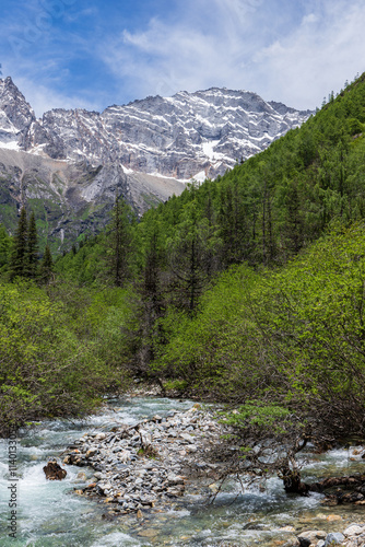
{"label": "steep green forested slope rising to the right, with shrubs at its foot", "polygon": [[141,221],[117,200],[107,230],[60,257],[47,286],[51,302],[71,300],[84,342],[97,346],[97,346],[103,374],[254,397],[319,433],[361,432],[364,124],[363,74],[301,129]]}

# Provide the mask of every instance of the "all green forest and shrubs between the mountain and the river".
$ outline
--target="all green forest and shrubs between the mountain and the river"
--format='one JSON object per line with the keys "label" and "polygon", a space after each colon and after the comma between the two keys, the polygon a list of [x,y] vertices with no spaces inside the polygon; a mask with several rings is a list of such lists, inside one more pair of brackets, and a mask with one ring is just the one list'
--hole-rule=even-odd
{"label": "all green forest and shrubs between the mountain and the river", "polygon": [[[245,437],[364,437],[365,74],[301,128],[51,256],[0,226],[0,430],[138,377]],[[234,412],[231,409],[235,409]],[[243,441],[244,443],[244,441]]]}

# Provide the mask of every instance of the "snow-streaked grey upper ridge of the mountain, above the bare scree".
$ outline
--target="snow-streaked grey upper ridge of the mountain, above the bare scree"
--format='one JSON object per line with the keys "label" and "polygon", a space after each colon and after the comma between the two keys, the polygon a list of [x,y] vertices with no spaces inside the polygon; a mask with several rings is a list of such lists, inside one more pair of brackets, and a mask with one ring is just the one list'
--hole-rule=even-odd
{"label": "snow-streaked grey upper ridge of the mountain, above the bare scree", "polygon": [[37,120],[10,78],[1,82],[0,112],[0,142],[7,146],[185,181],[224,173],[311,114],[255,93],[212,88],[114,105],[101,114],[56,108]]}

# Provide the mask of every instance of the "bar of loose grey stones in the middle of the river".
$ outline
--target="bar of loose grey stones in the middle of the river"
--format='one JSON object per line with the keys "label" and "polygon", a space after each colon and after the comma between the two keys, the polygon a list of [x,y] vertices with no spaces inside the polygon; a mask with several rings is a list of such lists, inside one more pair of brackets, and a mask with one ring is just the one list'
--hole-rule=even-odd
{"label": "bar of loose grey stones in the middle of the river", "polygon": [[[170,503],[172,498],[184,496],[189,480],[187,469],[190,467],[196,473],[196,455],[190,456],[185,450],[186,441],[179,435],[180,429],[195,423],[195,452],[199,451],[203,457],[207,447],[220,439],[223,427],[212,421],[209,412],[202,411],[199,405],[186,412],[172,411],[169,415],[158,417],[166,422],[166,429],[158,438],[153,434],[155,428],[161,428],[154,417],[110,433],[87,434],[73,443],[64,463],[89,465],[96,470],[94,482],[82,489],[78,485],[76,491],[102,496],[126,513],[138,511],[142,505],[164,503],[164,500]],[[87,451],[83,450],[84,446]],[[120,450],[115,452],[116,449]],[[200,477],[205,477],[209,485],[211,469],[216,465],[203,464],[202,467],[205,472],[201,469]]]}

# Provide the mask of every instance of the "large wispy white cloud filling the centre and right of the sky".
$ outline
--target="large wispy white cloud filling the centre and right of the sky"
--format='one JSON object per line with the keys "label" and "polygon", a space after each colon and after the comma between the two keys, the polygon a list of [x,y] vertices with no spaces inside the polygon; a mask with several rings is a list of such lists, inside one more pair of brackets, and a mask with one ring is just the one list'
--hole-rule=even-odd
{"label": "large wispy white cloud filling the centre and right of the sky", "polygon": [[225,85],[315,108],[364,69],[364,1],[185,5],[175,21],[152,19],[146,28],[125,31],[103,46],[104,61],[134,96]]}

